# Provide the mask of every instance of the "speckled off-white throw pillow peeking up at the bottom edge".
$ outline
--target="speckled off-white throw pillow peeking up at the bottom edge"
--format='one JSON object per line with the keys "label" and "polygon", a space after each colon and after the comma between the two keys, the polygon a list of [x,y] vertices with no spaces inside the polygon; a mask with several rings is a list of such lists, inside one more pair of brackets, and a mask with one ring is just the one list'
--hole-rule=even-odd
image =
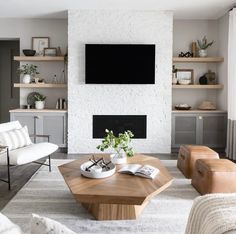
{"label": "speckled off-white throw pillow peeking up at the bottom edge", "polygon": [[76,234],[59,222],[32,214],[31,234]]}

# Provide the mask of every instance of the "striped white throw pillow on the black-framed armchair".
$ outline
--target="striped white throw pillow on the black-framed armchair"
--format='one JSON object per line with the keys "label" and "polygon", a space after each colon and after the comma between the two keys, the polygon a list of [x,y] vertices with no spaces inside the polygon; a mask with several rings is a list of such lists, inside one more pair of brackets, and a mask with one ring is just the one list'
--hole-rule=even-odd
{"label": "striped white throw pillow on the black-framed armchair", "polygon": [[18,149],[32,144],[27,126],[20,129],[0,132],[0,142],[2,145],[8,146],[9,150]]}

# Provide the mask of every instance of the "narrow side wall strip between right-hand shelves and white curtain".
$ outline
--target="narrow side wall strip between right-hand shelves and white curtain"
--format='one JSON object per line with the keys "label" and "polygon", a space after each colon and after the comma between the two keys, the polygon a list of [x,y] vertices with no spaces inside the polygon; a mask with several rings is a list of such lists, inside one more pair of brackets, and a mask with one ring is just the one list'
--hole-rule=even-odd
{"label": "narrow side wall strip between right-hand shelves and white curtain", "polygon": [[220,109],[227,110],[227,88],[228,88],[228,29],[229,29],[229,14],[222,16],[219,20],[219,56],[224,57],[224,63],[218,66],[219,82],[224,85],[224,89],[219,91],[217,97],[218,106]]}

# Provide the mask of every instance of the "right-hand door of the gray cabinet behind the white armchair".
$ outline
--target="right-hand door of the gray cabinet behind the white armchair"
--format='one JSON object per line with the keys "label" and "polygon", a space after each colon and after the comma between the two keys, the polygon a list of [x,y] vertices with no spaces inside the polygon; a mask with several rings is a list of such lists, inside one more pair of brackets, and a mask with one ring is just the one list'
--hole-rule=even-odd
{"label": "right-hand door of the gray cabinet behind the white armchair", "polygon": [[66,114],[45,114],[43,116],[43,134],[50,135],[50,142],[66,147]]}

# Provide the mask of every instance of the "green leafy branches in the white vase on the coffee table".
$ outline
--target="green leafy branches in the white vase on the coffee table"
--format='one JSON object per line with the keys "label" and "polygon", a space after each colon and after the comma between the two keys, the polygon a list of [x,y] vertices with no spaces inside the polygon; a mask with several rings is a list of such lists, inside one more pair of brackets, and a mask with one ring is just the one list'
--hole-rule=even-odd
{"label": "green leafy branches in the white vase on the coffee table", "polygon": [[118,136],[115,136],[113,131],[108,129],[105,130],[106,137],[102,140],[102,144],[97,146],[97,149],[102,152],[108,148],[112,148],[119,155],[123,150],[128,157],[134,156],[134,150],[129,146],[131,138],[134,137],[134,134],[131,131],[125,131],[124,133],[119,133]]}

